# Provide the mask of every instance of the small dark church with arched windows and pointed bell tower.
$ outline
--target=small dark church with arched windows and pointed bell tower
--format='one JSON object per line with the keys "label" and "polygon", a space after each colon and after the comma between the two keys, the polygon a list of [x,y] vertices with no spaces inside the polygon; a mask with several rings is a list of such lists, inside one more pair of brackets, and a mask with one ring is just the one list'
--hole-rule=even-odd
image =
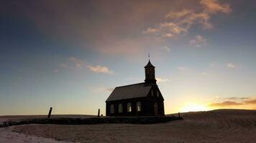
{"label": "small dark church with arched windows and pointed bell tower", "polygon": [[164,116],[164,99],[157,87],[155,66],[148,61],[145,82],[116,87],[106,99],[106,116]]}

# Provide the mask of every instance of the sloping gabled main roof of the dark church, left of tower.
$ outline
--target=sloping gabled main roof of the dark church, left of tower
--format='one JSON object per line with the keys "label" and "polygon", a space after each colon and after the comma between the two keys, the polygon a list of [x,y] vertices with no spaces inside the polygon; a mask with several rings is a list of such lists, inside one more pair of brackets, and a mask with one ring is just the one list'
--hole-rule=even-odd
{"label": "sloping gabled main roof of the dark church, left of tower", "polygon": [[106,99],[106,102],[122,100],[122,99],[133,99],[138,97],[147,97],[147,94],[152,88],[151,85],[146,85],[145,82],[140,84],[131,84],[122,87],[116,87],[114,91]]}

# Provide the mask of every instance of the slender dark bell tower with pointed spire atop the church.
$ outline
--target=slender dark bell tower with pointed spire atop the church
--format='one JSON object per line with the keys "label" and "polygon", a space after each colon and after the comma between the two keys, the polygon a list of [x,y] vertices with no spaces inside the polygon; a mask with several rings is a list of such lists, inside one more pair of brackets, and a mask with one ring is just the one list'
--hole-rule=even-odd
{"label": "slender dark bell tower with pointed spire atop the church", "polygon": [[[150,57],[150,55],[149,55]],[[155,66],[150,63],[150,59],[145,68],[145,84],[156,84],[157,80],[155,79]]]}

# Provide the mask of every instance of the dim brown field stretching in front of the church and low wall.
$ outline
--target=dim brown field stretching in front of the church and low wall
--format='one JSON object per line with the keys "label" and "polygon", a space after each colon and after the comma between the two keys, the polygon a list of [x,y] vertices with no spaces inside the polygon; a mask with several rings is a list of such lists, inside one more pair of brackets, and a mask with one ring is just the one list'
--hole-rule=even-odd
{"label": "dim brown field stretching in front of the church and low wall", "polygon": [[39,138],[41,142],[256,142],[255,110],[214,110],[181,115],[184,120],[160,124],[14,126],[1,128],[0,139],[7,137],[4,131],[11,134],[8,137],[12,134],[27,136]]}

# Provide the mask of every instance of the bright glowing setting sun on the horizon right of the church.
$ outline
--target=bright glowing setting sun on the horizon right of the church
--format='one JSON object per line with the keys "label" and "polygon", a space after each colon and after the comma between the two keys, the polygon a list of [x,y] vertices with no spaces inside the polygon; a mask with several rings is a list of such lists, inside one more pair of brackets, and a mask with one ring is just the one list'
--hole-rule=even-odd
{"label": "bright glowing setting sun on the horizon right of the church", "polygon": [[190,103],[180,108],[180,112],[199,112],[209,110],[207,106],[203,104]]}

